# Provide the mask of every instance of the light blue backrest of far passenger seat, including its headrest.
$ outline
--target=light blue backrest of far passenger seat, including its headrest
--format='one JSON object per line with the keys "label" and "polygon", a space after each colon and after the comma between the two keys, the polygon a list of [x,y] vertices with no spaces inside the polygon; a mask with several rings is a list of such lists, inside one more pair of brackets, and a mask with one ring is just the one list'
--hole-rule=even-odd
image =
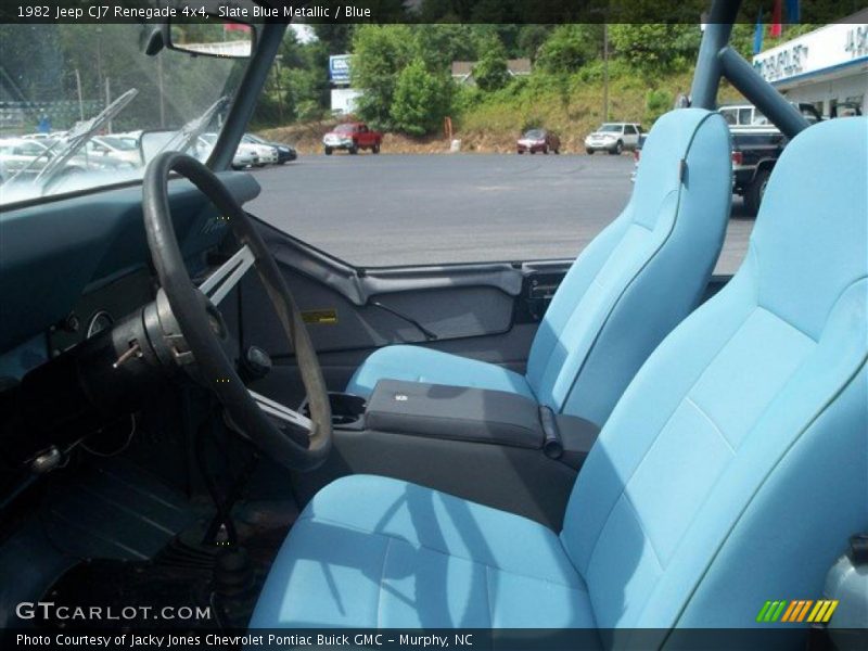
{"label": "light blue backrest of far passenger seat, including its headrest", "polygon": [[701,108],[662,116],[621,216],[576,259],[531,348],[541,404],[605,422],[661,340],[697,305],[731,203],[729,130]]}

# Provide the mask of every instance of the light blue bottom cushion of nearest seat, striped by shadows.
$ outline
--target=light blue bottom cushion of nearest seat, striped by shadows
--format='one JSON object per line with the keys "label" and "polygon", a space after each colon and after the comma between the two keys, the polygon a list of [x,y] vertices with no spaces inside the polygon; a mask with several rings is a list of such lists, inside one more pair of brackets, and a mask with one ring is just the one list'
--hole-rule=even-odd
{"label": "light blue bottom cushion of nearest seat, striped by shadows", "polygon": [[322,489],[281,548],[251,621],[273,627],[593,627],[551,529],[416,484]]}

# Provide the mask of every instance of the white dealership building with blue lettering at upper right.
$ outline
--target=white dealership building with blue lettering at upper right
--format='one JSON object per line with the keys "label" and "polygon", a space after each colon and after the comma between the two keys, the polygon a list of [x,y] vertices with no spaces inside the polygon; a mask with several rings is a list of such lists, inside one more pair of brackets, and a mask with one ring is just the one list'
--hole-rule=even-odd
{"label": "white dealership building with blue lettering at upper right", "polygon": [[753,58],[756,71],[790,101],[825,117],[868,110],[868,10]]}

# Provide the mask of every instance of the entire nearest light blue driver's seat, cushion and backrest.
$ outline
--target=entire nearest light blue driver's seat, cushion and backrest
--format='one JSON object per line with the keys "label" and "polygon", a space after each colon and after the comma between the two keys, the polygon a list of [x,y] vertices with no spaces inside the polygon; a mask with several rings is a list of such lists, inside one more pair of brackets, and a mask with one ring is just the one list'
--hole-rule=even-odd
{"label": "entire nearest light blue driver's seat, cushion and backrest", "polygon": [[563,531],[405,482],[339,480],[253,627],[749,627],[821,597],[868,525],[868,118],[780,157],[732,281],[654,350]]}

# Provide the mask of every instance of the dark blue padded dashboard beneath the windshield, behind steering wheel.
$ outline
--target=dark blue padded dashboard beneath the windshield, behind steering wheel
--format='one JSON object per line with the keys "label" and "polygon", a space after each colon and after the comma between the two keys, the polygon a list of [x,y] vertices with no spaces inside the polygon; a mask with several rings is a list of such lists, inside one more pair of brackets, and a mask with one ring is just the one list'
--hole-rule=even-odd
{"label": "dark blue padded dashboard beneath the windshield, behind steering wheel", "polygon": [[[259,184],[220,180],[242,205]],[[141,186],[103,190],[0,213],[0,375],[20,378],[154,297]],[[191,271],[227,233],[190,182],[169,182],[173,225]]]}

